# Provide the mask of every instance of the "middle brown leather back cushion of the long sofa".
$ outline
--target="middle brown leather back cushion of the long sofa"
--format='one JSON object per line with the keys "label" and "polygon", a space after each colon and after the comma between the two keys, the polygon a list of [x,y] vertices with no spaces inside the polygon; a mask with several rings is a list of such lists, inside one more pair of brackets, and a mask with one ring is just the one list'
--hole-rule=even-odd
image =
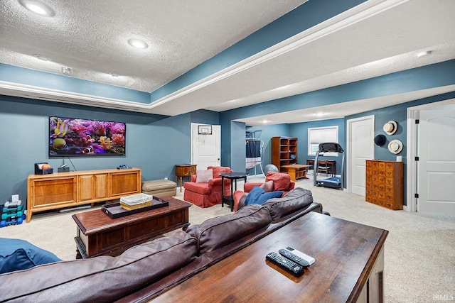
{"label": "middle brown leather back cushion of the long sofa", "polygon": [[186,232],[198,239],[199,252],[206,253],[243,238],[271,221],[269,209],[252,204],[235,214],[217,216],[190,226]]}

